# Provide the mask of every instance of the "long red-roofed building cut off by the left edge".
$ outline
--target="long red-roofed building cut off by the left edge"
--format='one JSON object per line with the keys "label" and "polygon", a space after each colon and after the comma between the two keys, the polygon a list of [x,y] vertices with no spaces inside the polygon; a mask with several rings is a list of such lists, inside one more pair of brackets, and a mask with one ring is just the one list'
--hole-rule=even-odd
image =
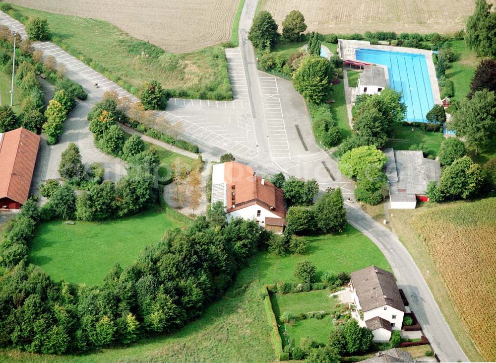
{"label": "long red-roofed building cut off by the left edge", "polygon": [[20,209],[29,196],[40,137],[24,128],[0,134],[0,208]]}

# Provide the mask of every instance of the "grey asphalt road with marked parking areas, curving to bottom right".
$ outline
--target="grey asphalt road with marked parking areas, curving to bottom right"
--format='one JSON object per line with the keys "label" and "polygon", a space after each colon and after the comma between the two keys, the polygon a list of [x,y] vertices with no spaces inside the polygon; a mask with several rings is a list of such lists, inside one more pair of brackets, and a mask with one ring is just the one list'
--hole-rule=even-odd
{"label": "grey asphalt road with marked parking areas, curving to bottom right", "polygon": [[[230,55],[234,57],[233,63],[229,63],[230,73],[242,75],[239,78],[243,81],[240,96],[235,94],[235,101],[232,102],[214,104],[215,101],[211,101],[215,106],[211,106],[207,101],[208,108],[205,108],[205,101],[202,103],[200,100],[175,99],[174,105],[171,105],[172,110],[168,108],[167,112],[161,112],[159,116],[186,123],[185,137],[204,146],[207,154],[220,155],[224,150],[228,150],[237,158],[245,158],[249,163],[257,165],[257,170],[262,172],[284,171],[305,179],[314,178],[322,189],[328,186],[341,187],[345,196],[352,197],[353,183],[344,178],[336,162],[315,145],[305,103],[294,91],[291,82],[276,79],[256,69],[255,54],[248,41],[248,30],[257,1],[245,2],[239,24],[240,48],[226,50],[228,59]],[[21,23],[1,11],[0,24],[20,32],[23,38],[27,36]],[[58,63],[65,64],[66,75],[83,85],[89,94],[89,99],[101,98],[104,90],[115,90],[121,97],[129,96],[132,101],[137,101],[137,98],[122,87],[84,65],[58,46],[50,42],[35,42],[34,46],[42,49],[45,55],[53,55]],[[99,88],[93,86],[95,82],[99,83]],[[228,135],[232,134],[216,133],[215,128],[220,126],[209,122],[209,119],[197,120],[197,115],[200,118],[201,116],[207,118],[209,114],[212,118],[224,117],[224,113],[227,112],[225,110],[230,110],[231,107],[236,110],[229,111],[229,115],[233,112],[237,114],[229,116],[229,124],[233,121],[234,126],[226,126],[226,132],[234,130],[235,133],[246,134],[246,137],[240,138],[240,135],[235,135],[229,139]],[[225,115],[227,120],[228,114]],[[237,120],[237,125],[234,120]],[[213,126],[209,129],[204,126],[205,124]],[[231,131],[228,127],[231,127],[229,129]],[[233,141],[235,139],[237,141]],[[402,243],[356,204],[347,204],[346,209],[349,222],[372,239],[391,265],[398,286],[405,291],[410,308],[415,312],[439,359],[442,362],[467,362],[468,358],[451,333],[431,290]]]}

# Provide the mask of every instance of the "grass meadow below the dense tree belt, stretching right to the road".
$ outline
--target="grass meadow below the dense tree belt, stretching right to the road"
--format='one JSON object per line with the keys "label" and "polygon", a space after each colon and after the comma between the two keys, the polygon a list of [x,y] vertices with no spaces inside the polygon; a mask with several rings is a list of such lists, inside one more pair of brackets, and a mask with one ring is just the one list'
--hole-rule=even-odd
{"label": "grass meadow below the dense tree belt, stretching right to the road", "polygon": [[0,350],[0,361],[273,362],[270,327],[260,293],[263,285],[282,280],[296,282],[293,270],[296,263],[304,259],[315,264],[318,275],[326,270],[351,272],[372,264],[391,270],[373,242],[351,226],[339,235],[322,235],[308,240],[305,255],[279,257],[266,252],[256,255],[218,302],[208,307],[201,318],[174,334],[80,357]]}

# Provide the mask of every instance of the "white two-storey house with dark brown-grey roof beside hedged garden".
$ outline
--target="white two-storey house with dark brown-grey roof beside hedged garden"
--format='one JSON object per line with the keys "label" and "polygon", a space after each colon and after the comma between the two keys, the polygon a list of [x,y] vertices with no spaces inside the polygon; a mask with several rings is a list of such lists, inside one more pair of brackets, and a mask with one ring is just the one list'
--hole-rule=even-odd
{"label": "white two-storey house with dark brown-grey roof beside hedged garden", "polygon": [[351,295],[362,311],[358,323],[372,331],[374,342],[387,342],[401,330],[406,309],[393,274],[373,265],[352,272]]}

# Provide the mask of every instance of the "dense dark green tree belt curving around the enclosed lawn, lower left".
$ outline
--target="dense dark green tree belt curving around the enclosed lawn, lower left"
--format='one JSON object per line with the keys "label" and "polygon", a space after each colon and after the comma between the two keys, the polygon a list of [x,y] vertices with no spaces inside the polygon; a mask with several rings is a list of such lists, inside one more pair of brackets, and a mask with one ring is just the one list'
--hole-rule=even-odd
{"label": "dense dark green tree belt curving around the enclosed lawn, lower left", "polygon": [[87,287],[54,282],[27,264],[39,220],[29,200],[3,230],[0,345],[44,354],[82,353],[177,330],[230,287],[269,236],[255,221],[226,223],[222,209],[209,211]]}

